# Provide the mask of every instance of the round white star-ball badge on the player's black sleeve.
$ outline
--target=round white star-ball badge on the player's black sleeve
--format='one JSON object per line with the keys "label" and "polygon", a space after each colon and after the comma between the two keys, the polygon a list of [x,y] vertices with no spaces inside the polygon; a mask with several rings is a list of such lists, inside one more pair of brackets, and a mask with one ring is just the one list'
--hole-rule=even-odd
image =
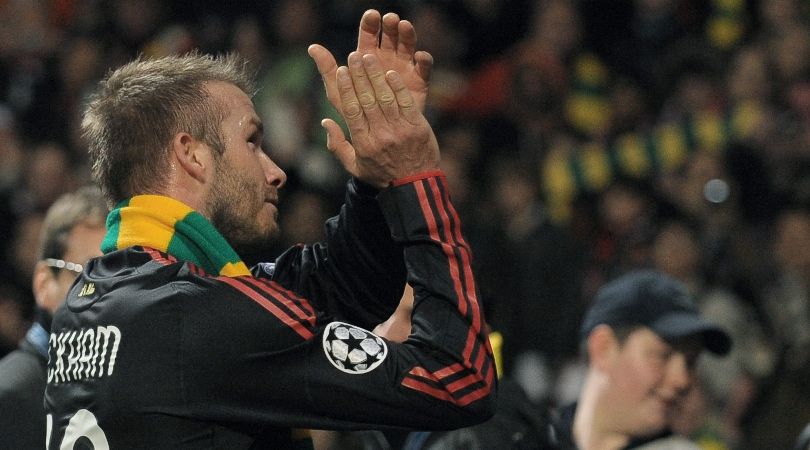
{"label": "round white star-ball badge on the player's black sleeve", "polygon": [[371,372],[388,355],[385,341],[370,331],[343,322],[326,326],[323,351],[333,366],[352,375]]}

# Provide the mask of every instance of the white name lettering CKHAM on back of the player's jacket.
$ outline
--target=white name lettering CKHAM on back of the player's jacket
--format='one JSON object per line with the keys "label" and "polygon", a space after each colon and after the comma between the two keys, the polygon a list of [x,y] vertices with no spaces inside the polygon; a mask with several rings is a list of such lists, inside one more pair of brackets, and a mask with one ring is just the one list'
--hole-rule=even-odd
{"label": "white name lettering CKHAM on back of the player's jacket", "polygon": [[48,383],[110,376],[115,368],[121,330],[113,325],[51,333]]}

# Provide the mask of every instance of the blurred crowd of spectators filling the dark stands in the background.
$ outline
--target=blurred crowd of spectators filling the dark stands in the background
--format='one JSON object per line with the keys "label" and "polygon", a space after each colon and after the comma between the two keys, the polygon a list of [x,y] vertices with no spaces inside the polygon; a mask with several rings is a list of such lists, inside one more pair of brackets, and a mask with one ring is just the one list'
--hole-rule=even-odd
{"label": "blurred crowd of spectators filling the dark stands in the background", "polygon": [[676,428],[788,448],[810,422],[807,0],[0,0],[0,354],[32,315],[44,211],[90,182],[86,96],[138,54],[250,59],[289,175],[277,249],[320,239],[347,175],[306,47],[345,61],[370,7],[434,56],[427,115],[505,375],[571,401],[593,293],[655,267],[735,340],[701,360]]}

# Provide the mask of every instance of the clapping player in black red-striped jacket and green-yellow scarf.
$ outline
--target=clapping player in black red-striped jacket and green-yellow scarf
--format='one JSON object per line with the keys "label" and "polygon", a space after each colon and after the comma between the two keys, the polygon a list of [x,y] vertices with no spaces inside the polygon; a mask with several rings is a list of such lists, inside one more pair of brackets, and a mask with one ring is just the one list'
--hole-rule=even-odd
{"label": "clapping player in black red-striped jacket and green-yellow scarf", "polygon": [[[311,448],[302,428],[492,415],[469,247],[421,113],[430,56],[414,45],[410,23],[369,11],[348,67],[310,48],[351,132],[325,121],[328,147],[353,178],[326,242],[252,272],[238,252],[274,235],[285,174],[244,64],[136,60],[102,81],[83,129],[115,208],[104,256],[54,317],[48,448]],[[367,330],[406,278],[413,331],[389,342]]]}

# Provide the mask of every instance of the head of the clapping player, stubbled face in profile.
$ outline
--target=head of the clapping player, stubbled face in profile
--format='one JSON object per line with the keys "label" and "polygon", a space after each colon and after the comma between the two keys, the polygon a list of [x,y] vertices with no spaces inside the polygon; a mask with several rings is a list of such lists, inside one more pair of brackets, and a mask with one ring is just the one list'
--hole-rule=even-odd
{"label": "head of the clapping player, stubbled face in profile", "polygon": [[206,216],[237,251],[267,241],[286,175],[262,151],[253,90],[233,55],[138,59],[112,72],[82,122],[108,201],[168,195]]}

